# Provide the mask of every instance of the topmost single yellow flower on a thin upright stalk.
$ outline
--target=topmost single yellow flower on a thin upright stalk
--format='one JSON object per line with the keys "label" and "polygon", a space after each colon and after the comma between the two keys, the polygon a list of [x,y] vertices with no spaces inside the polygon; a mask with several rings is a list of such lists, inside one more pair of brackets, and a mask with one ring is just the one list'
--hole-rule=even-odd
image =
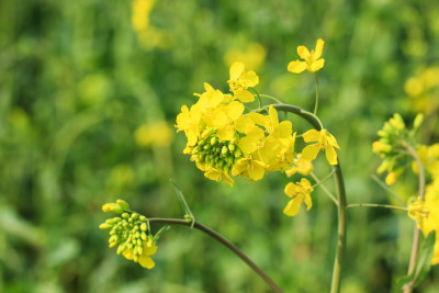
{"label": "topmost single yellow flower on a thin upright stalk", "polygon": [[305,46],[299,46],[297,54],[304,61],[301,61],[299,59],[295,61],[291,61],[288,66],[288,70],[294,74],[300,74],[305,69],[307,69],[311,72],[315,72],[322,69],[323,66],[325,65],[325,59],[320,58],[323,46],[324,46],[324,41],[322,38],[317,40],[315,52],[313,49],[309,53],[309,50]]}

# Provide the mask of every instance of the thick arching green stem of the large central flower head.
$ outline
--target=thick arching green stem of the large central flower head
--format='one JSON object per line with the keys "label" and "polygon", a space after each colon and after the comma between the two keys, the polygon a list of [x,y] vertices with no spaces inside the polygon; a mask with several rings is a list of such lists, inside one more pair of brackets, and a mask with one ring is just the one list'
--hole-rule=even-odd
{"label": "thick arching green stem of the large central flower head", "polygon": [[[313,113],[309,113],[299,106],[288,105],[288,104],[273,104],[273,106],[278,111],[288,111],[290,113],[296,114],[304,120],[306,120],[317,131],[323,129],[323,124],[320,120]],[[341,283],[341,270],[345,261],[345,251],[346,251],[346,225],[347,225],[347,209],[348,205],[346,199],[346,190],[345,190],[345,180],[341,172],[340,162],[338,165],[333,166],[333,170],[335,171],[334,177],[336,181],[336,190],[338,198],[338,240],[337,240],[337,250],[336,250],[336,259],[333,269],[333,281],[330,285],[330,293],[340,292],[340,283]]]}

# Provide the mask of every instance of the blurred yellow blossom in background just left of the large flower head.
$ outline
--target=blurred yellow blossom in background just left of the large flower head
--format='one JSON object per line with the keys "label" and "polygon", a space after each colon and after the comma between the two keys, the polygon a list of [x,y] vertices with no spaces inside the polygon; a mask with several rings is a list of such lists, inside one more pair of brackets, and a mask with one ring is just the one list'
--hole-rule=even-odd
{"label": "blurred yellow blossom in background just left of the large flower head", "polygon": [[166,147],[172,142],[172,132],[165,121],[143,124],[134,133],[136,144],[140,147]]}

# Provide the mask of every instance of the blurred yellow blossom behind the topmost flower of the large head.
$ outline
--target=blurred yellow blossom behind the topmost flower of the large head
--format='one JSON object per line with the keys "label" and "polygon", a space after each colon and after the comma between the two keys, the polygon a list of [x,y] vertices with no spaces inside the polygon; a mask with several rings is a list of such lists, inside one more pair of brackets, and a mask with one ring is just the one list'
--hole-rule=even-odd
{"label": "blurred yellow blossom behind the topmost flower of the large head", "polygon": [[241,61],[248,68],[257,70],[264,61],[266,55],[267,50],[261,44],[251,43],[245,50],[228,50],[224,57],[224,60],[226,61],[227,66],[230,66],[236,61]]}

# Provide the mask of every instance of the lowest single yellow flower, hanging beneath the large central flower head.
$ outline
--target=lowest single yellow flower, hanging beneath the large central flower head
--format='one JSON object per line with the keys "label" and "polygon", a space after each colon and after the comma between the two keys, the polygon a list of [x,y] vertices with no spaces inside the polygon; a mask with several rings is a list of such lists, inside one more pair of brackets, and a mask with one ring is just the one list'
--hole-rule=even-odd
{"label": "lowest single yellow flower, hanging beneath the large central flower head", "polygon": [[301,209],[301,204],[304,202],[306,204],[306,211],[313,206],[313,202],[311,200],[311,192],[314,189],[311,187],[311,182],[306,178],[302,178],[301,182],[296,182],[295,184],[290,182],[285,187],[285,194],[290,198],[293,198],[285,209],[283,213],[289,216],[295,216]]}

